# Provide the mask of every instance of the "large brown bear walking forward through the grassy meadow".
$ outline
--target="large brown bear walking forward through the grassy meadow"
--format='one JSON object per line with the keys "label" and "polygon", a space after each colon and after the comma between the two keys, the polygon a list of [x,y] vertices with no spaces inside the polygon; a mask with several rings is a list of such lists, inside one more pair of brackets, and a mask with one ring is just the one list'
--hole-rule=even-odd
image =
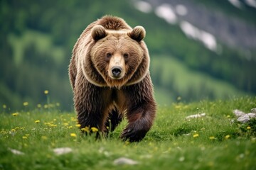
{"label": "large brown bear walking forward through the grassy meadow", "polygon": [[149,131],[156,102],[145,35],[142,26],[132,29],[114,16],[104,16],[82,32],[69,65],[80,128],[107,133],[125,116],[123,140],[140,141]]}

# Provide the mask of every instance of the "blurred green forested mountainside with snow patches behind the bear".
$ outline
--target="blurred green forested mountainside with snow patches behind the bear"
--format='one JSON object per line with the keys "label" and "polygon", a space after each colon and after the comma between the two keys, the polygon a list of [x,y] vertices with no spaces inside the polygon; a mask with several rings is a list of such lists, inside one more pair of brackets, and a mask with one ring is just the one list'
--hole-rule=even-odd
{"label": "blurred green forested mountainside with snow patches behind the bear", "polygon": [[1,0],[0,111],[47,103],[72,111],[73,45],[106,14],[146,29],[159,105],[255,96],[256,1],[235,2]]}

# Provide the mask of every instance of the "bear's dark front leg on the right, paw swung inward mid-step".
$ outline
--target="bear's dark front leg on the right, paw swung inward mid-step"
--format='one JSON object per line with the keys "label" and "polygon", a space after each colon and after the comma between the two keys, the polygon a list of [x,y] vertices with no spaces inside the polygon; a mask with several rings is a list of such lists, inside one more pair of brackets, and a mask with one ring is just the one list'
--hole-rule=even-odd
{"label": "bear's dark front leg on the right, paw swung inward mid-step", "polygon": [[127,103],[128,125],[122,132],[121,138],[138,142],[151,128],[156,115],[156,102],[149,75],[139,84],[125,87],[123,93]]}

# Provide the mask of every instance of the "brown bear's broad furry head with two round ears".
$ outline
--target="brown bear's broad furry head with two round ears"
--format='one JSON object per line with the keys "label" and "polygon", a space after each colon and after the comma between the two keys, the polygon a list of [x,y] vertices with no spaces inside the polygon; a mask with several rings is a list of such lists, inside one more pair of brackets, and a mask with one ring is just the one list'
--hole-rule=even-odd
{"label": "brown bear's broad furry head with two round ears", "polygon": [[85,57],[85,76],[97,86],[120,88],[136,84],[149,72],[149,52],[142,26],[108,30],[97,25]]}

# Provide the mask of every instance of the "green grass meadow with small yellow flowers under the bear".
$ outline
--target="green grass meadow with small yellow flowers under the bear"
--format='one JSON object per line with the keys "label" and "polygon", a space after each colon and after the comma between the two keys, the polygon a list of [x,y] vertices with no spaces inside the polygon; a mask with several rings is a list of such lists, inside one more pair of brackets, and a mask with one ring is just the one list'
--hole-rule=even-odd
{"label": "green grass meadow with small yellow flowers under the bear", "polygon": [[[125,121],[107,139],[95,140],[80,136],[75,113],[1,113],[0,169],[256,169],[256,121],[232,123],[233,109],[248,113],[255,103],[256,98],[244,97],[159,106],[154,126],[138,143],[119,140]],[[206,116],[186,120],[197,113]],[[56,155],[58,147],[73,151]],[[138,164],[114,165],[119,157]]]}

